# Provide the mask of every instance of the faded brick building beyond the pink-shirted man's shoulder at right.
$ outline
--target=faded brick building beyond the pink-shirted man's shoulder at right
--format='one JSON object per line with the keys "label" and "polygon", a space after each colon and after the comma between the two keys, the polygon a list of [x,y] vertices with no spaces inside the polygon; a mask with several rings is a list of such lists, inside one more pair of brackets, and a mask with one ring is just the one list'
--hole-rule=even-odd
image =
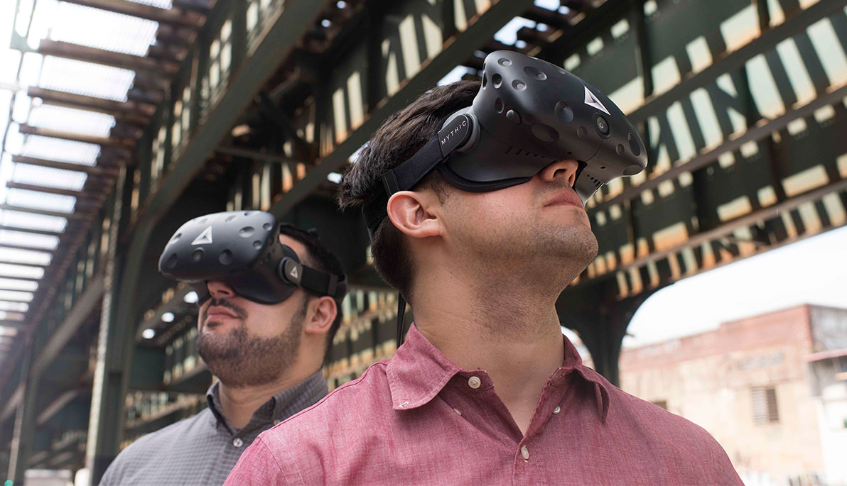
{"label": "faded brick building beyond the pink-shirted man's shoulder at right", "polygon": [[800,305],[625,350],[623,390],[707,429],[748,484],[847,483],[847,309]]}

